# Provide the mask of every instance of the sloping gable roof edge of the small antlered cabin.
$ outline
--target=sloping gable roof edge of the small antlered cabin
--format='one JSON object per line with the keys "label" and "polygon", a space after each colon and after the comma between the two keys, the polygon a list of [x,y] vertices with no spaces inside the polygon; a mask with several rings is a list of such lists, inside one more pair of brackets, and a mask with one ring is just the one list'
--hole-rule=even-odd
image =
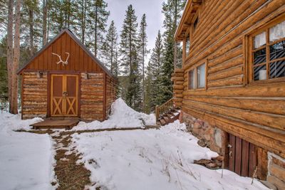
{"label": "sloping gable roof edge of the small antlered cabin", "polygon": [[[115,76],[110,73],[110,70],[108,70],[108,68],[106,68],[103,63],[98,60],[98,58],[95,58],[95,56],[93,55],[93,53],[91,53],[88,48],[86,48],[86,46],[83,45],[83,43],[81,43],[81,41],[69,30],[69,29],[63,29],[60,33],[58,33],[58,35],[56,35],[51,41],[49,41],[48,43],[46,43],[45,46],[43,46],[43,48],[41,48],[40,51],[38,51],[30,60],[28,60],[28,62],[26,64],[24,64],[21,68],[19,68],[19,70],[17,71],[17,74],[19,75],[25,68],[26,66],[28,66],[29,63],[31,63],[36,57],[38,57],[41,53],[43,53],[43,51],[46,50],[46,48],[48,48],[53,42],[55,42],[63,33],[67,33],[69,36],[71,36],[71,38],[83,49],[83,51],[85,51],[88,56],[90,56],[90,58],[92,58],[95,63],[97,63],[99,65],[99,67],[107,74],[109,75],[111,78],[115,78]],[[115,78],[116,79],[116,78]]]}

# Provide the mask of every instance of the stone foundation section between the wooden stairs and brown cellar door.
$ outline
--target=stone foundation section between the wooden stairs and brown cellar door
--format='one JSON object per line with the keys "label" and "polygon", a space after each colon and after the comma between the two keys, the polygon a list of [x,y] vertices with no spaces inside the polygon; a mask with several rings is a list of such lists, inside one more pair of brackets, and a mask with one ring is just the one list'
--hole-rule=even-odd
{"label": "stone foundation section between the wooden stairs and brown cellar door", "polygon": [[188,132],[191,132],[199,139],[198,144],[201,147],[208,147],[212,151],[223,155],[226,132],[182,111],[180,113],[180,122],[185,122]]}

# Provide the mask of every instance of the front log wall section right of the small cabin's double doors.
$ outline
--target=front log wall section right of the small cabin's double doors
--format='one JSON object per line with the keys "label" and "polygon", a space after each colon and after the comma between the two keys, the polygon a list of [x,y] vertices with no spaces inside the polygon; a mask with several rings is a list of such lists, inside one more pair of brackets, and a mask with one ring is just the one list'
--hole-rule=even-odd
{"label": "front log wall section right of the small cabin's double doors", "polygon": [[81,73],[81,120],[103,121],[104,73]]}

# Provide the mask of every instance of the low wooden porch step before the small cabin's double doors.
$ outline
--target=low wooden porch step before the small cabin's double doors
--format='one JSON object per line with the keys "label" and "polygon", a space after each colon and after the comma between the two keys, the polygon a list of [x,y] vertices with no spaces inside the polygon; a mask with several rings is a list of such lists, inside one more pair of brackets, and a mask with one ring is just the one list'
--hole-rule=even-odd
{"label": "low wooden porch step before the small cabin's double doors", "polygon": [[42,129],[66,129],[71,130],[72,127],[78,124],[79,120],[44,120],[43,122],[37,122],[32,124],[33,130]]}

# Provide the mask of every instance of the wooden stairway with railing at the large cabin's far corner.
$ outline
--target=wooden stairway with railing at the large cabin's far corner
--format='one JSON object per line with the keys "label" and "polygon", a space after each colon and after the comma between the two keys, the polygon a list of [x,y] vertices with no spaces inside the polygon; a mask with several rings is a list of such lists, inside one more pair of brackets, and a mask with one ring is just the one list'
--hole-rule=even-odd
{"label": "wooden stairway with railing at the large cabin's far corner", "polygon": [[178,120],[180,108],[176,107],[173,98],[160,106],[155,107],[156,125],[167,125]]}

